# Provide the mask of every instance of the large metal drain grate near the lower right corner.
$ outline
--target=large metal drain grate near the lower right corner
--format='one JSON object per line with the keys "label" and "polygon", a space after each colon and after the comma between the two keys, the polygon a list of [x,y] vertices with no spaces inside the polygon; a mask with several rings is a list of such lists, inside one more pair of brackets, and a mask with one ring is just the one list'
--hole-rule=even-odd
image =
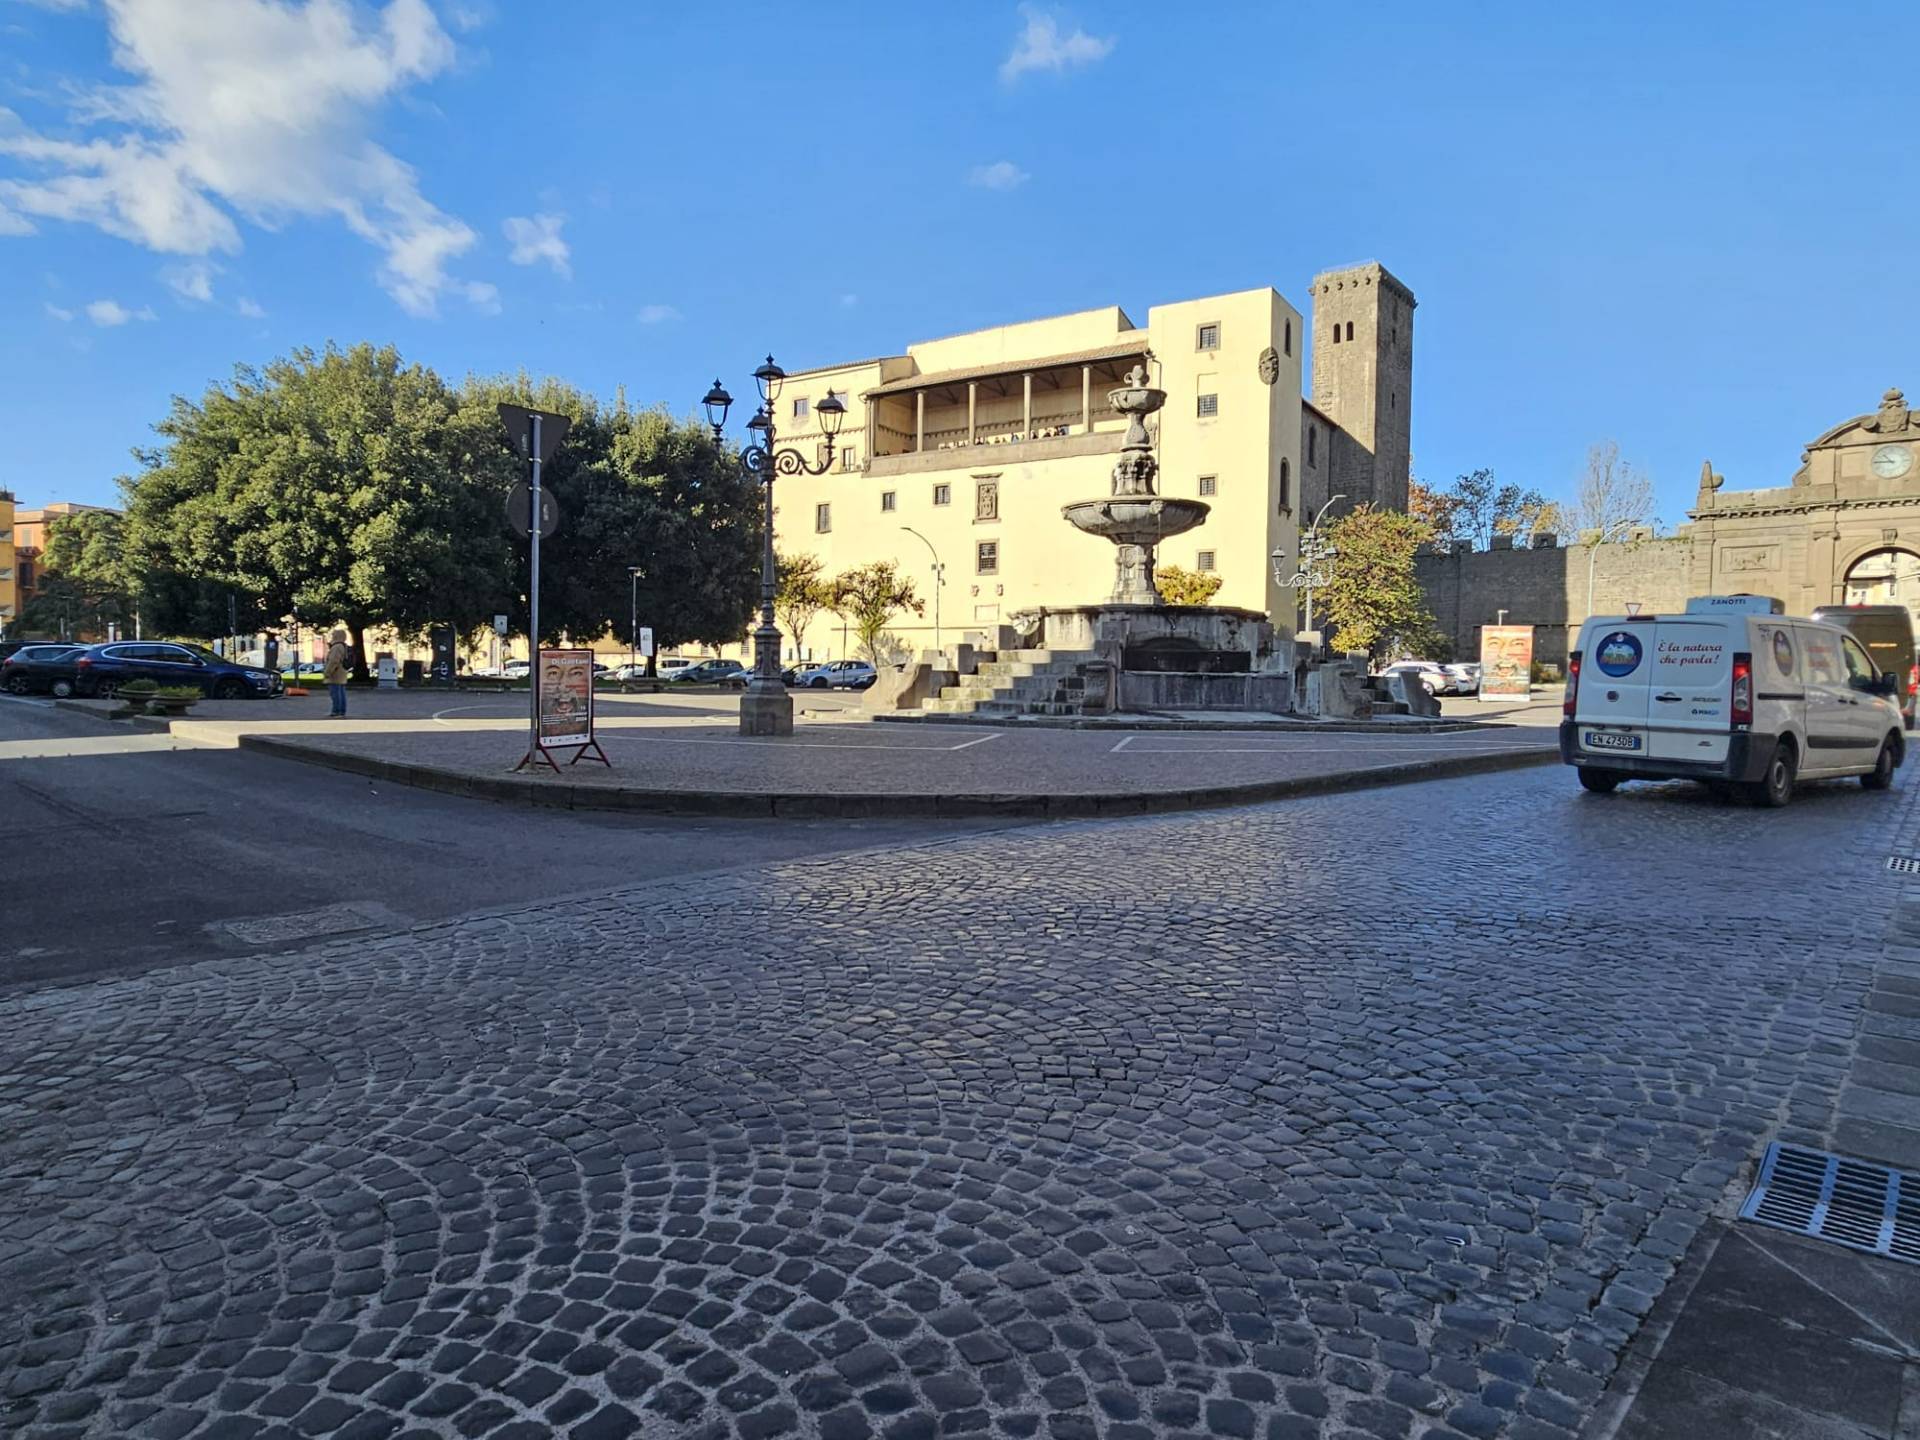
{"label": "large metal drain grate near the lower right corner", "polygon": [[1774,1140],[1740,1217],[1920,1265],[1920,1183],[1864,1160]]}

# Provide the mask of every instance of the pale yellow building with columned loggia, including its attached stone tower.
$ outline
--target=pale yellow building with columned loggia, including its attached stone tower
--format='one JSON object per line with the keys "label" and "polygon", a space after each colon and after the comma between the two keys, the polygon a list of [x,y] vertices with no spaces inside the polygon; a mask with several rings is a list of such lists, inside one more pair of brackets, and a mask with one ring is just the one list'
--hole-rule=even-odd
{"label": "pale yellow building with columned loggia, including its attached stone tower", "polygon": [[[1213,507],[1160,563],[1217,574],[1213,603],[1290,630],[1294,591],[1275,582],[1273,551],[1292,561],[1331,493],[1398,507],[1407,486],[1411,292],[1369,263],[1315,276],[1313,303],[1315,374],[1327,367],[1315,403],[1302,394],[1308,324],[1271,288],[1154,305],[1146,324],[1104,307],[789,374],[781,445],[820,453],[814,407],[829,392],[847,419],[829,472],[778,482],[780,551],[818,555],[829,576],[895,561],[925,601],[891,626],[914,649],[935,626],[954,641],[1016,611],[1104,601],[1114,547],[1060,507],[1110,492],[1125,422],[1106,392],[1144,363],[1167,392],[1150,426],[1160,492]],[[851,632],[822,611],[783,653],[851,655]]]}

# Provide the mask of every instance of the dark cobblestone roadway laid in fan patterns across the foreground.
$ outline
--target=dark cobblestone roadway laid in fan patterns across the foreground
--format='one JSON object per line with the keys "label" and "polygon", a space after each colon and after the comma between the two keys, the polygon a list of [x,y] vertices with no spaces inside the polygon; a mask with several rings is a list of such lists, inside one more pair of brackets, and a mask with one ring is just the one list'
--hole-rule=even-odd
{"label": "dark cobblestone roadway laid in fan patterns across the foreground", "polygon": [[1826,1125],[1908,789],[1555,768],[12,996],[0,1428],[1565,1440]]}

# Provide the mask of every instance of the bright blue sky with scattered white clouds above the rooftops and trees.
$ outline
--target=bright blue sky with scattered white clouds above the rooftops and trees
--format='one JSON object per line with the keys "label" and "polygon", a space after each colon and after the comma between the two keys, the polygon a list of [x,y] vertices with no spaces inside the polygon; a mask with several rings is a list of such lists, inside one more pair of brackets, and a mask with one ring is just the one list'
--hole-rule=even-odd
{"label": "bright blue sky with scattered white clouds above the rooftops and trees", "polygon": [[[563,23],[564,17],[564,23]],[[1380,259],[1415,470],[1667,522],[1920,394],[1912,10],[0,0],[0,486],[392,340],[636,403]],[[768,71],[760,58],[778,61]]]}

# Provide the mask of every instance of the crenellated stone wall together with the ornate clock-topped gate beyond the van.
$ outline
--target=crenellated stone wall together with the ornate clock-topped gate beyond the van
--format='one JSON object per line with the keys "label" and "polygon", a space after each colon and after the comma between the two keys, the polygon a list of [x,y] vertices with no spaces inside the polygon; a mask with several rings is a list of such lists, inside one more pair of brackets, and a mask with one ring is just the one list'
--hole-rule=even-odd
{"label": "crenellated stone wall together with the ornate clock-topped gate beyond the van", "polygon": [[1455,651],[1478,653],[1480,626],[1536,626],[1534,655],[1565,659],[1588,614],[1659,612],[1690,595],[1751,591],[1786,603],[1905,605],[1920,632],[1920,411],[1899,390],[1841,420],[1801,453],[1784,486],[1726,490],[1701,467],[1688,524],[1661,540],[1428,553],[1417,574]]}

